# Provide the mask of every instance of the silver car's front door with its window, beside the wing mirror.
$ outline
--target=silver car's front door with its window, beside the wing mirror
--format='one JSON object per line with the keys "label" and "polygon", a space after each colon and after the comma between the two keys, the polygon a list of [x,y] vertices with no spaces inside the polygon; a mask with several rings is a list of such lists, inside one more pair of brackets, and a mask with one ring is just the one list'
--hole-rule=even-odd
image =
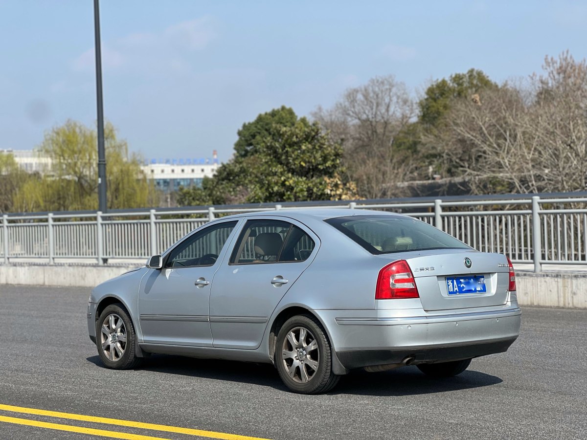
{"label": "silver car's front door with its window, beside the wing mirror", "polygon": [[139,287],[143,341],[212,346],[208,323],[210,288],[238,221],[217,222],[194,232],[150,269]]}

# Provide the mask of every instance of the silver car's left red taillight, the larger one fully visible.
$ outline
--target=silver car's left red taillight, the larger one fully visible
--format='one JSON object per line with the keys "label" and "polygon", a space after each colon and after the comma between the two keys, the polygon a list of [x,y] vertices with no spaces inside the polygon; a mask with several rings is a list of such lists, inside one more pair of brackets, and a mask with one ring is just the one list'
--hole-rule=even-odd
{"label": "silver car's left red taillight, the larger one fully visible", "polygon": [[375,299],[419,297],[416,280],[406,260],[393,262],[379,271]]}

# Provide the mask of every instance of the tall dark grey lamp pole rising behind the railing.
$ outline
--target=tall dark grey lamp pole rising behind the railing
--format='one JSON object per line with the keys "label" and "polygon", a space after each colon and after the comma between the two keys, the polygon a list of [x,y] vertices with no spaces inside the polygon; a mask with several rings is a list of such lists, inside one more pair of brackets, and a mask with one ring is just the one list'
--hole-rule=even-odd
{"label": "tall dark grey lamp pole rising behind the railing", "polygon": [[100,50],[100,11],[94,0],[94,31],[96,42],[96,101],[98,105],[98,210],[106,207],[106,153],[104,153],[104,108],[102,104],[102,50]]}

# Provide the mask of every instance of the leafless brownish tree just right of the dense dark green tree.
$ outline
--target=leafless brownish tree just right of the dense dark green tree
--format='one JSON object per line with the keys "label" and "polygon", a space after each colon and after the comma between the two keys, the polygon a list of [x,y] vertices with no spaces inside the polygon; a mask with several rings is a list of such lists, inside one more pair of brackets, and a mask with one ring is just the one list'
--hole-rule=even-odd
{"label": "leafless brownish tree just right of the dense dark green tree", "polygon": [[409,178],[414,161],[394,148],[394,138],[415,115],[404,84],[384,76],[346,90],[332,109],[318,107],[312,117],[343,145],[343,162],[359,194],[378,198],[406,191],[397,182]]}

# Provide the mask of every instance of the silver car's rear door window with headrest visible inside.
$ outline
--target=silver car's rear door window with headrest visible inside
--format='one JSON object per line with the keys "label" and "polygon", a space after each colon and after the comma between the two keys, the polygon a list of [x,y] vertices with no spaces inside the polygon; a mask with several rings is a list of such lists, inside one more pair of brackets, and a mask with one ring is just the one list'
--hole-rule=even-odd
{"label": "silver car's rear door window with headrest visible inside", "polygon": [[232,251],[231,264],[296,262],[308,259],[315,243],[298,226],[281,220],[249,220]]}

